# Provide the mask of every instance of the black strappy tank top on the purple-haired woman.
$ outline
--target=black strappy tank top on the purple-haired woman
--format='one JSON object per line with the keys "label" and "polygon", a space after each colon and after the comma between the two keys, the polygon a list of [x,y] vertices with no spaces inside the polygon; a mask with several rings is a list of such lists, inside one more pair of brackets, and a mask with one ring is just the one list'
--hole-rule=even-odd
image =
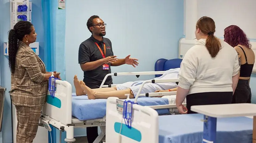
{"label": "black strappy tank top on the purple-haired woman", "polygon": [[[240,47],[240,46],[238,46]],[[245,55],[245,51],[242,47],[240,47],[242,49],[242,51],[244,52],[244,56],[245,56],[245,64],[241,65],[240,68],[240,77],[250,77],[251,73],[252,73],[252,69],[253,69],[253,65],[254,64],[248,64],[247,62],[247,57]]]}

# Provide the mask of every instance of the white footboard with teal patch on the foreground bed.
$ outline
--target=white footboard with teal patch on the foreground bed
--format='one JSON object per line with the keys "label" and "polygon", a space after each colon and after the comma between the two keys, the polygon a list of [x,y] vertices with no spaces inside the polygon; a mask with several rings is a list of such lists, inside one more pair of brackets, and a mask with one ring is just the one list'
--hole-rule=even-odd
{"label": "white footboard with teal patch on the foreground bed", "polygon": [[[123,112],[116,110],[117,97],[109,97],[107,100],[106,112],[106,143],[158,143],[158,113],[156,110],[148,106],[140,106],[133,104],[132,106],[132,128],[139,130],[137,141],[120,135],[121,130],[127,129],[123,120]],[[120,124],[121,127],[113,128],[115,124]],[[129,129],[128,129],[129,130]],[[133,132],[133,134],[135,134]],[[135,135],[134,135],[135,136]],[[141,137],[141,138],[140,138]]]}

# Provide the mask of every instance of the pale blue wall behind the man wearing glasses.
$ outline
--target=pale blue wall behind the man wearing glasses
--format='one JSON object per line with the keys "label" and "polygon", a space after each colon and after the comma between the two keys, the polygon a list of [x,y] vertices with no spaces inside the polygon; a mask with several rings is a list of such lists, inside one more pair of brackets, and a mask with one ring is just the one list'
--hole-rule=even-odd
{"label": "pale blue wall behind the man wearing glasses", "polygon": [[[105,37],[111,40],[117,58],[129,54],[139,58],[136,68],[122,65],[112,67],[112,72],[153,71],[157,59],[178,57],[178,42],[183,36],[183,0],[68,0],[66,6],[66,80],[73,86],[73,92],[74,75],[83,79],[78,49],[80,43],[91,36],[86,26],[91,15],[99,15],[107,23]],[[153,76],[113,77],[113,82],[149,78]],[[75,129],[74,135],[85,133],[85,129]]]}

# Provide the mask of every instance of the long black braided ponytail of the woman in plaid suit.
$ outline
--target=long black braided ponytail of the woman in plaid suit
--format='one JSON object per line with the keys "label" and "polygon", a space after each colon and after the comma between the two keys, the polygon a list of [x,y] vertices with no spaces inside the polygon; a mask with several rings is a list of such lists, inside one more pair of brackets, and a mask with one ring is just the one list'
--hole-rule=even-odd
{"label": "long black braided ponytail of the woman in plaid suit", "polygon": [[16,54],[18,51],[18,38],[15,34],[14,29],[11,29],[9,31],[9,47],[8,47],[8,53],[9,53],[9,67],[11,70],[11,73],[14,73],[15,70],[15,59],[16,59]]}

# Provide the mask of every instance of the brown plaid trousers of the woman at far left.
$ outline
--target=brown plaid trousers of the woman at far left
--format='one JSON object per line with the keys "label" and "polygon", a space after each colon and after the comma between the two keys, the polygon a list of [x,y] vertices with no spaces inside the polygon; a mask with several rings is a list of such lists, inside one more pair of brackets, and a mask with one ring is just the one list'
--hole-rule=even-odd
{"label": "brown plaid trousers of the woman at far left", "polygon": [[15,106],[17,111],[16,143],[33,143],[35,138],[42,106],[24,107]]}

